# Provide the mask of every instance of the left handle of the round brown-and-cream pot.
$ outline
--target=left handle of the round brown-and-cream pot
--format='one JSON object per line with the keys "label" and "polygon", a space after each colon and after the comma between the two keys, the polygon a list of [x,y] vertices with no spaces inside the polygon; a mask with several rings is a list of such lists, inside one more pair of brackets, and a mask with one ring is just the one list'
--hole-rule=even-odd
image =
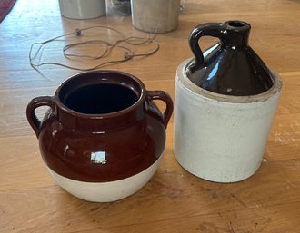
{"label": "left handle of the round brown-and-cream pot", "polygon": [[29,122],[30,126],[35,131],[35,135],[38,138],[43,122],[40,121],[36,114],[35,109],[41,106],[49,106],[51,109],[54,110],[55,108],[55,99],[51,96],[41,96],[34,98],[31,102],[28,103],[27,109],[26,109],[26,116],[27,121]]}

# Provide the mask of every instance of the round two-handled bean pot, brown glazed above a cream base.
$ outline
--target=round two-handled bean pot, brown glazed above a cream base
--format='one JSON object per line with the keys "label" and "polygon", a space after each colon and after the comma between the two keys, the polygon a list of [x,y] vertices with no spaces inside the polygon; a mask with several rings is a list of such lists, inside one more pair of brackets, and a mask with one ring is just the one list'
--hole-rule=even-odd
{"label": "round two-handled bean pot, brown glazed above a cream base", "polygon": [[[165,102],[165,112],[154,100]],[[43,121],[35,109],[49,106]],[[173,102],[163,91],[146,91],[135,76],[117,71],[79,73],[55,96],[27,105],[47,169],[80,199],[106,202],[141,189],[158,167]]]}

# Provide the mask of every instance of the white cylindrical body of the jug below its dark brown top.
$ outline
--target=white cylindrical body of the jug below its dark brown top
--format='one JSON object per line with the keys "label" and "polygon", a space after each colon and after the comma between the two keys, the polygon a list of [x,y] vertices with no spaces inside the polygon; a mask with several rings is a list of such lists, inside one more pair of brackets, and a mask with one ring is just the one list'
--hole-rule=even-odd
{"label": "white cylindrical body of the jug below its dark brown top", "polygon": [[192,83],[185,73],[189,61],[176,73],[175,159],[205,180],[245,180],[262,162],[282,91],[280,77],[273,73],[273,87],[261,94],[223,95]]}

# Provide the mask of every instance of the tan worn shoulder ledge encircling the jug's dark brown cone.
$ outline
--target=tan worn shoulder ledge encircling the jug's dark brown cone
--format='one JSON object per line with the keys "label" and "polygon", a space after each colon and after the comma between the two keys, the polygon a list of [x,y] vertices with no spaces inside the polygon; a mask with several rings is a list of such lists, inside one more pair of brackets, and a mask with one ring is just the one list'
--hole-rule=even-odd
{"label": "tan worn shoulder ledge encircling the jug's dark brown cone", "polygon": [[202,95],[205,98],[215,100],[217,102],[232,102],[232,103],[250,103],[250,102],[265,102],[270,99],[272,96],[281,92],[283,83],[278,73],[276,73],[273,69],[270,69],[272,73],[274,83],[272,87],[266,92],[262,92],[254,95],[246,95],[246,96],[235,96],[235,95],[225,95],[216,92],[210,92],[205,90],[202,87],[197,86],[193,83],[186,75],[185,68],[188,63],[193,58],[189,58],[185,60],[185,62],[181,63],[177,68],[177,77],[184,84],[185,88],[189,92],[194,92],[197,95]]}

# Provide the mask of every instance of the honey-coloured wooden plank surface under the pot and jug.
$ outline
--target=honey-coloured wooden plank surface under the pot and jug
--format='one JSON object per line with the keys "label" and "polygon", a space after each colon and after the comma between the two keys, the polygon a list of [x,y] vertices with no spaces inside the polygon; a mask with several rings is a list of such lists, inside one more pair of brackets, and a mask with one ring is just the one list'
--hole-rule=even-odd
{"label": "honey-coloured wooden plank surface under the pot and jug", "polygon": [[[26,104],[36,96],[53,95],[59,83],[77,72],[48,65],[41,67],[41,75],[30,67],[28,53],[31,44],[76,28],[109,25],[128,36],[146,34],[132,27],[130,17],[62,18],[57,2],[18,0],[0,24],[0,232],[300,232],[299,1],[190,0],[178,29],[157,36],[158,53],[106,67],[132,73],[148,90],[165,90],[174,99],[176,68],[192,56],[187,44],[192,28],[239,19],[252,24],[251,46],[284,82],[265,162],[253,177],[220,184],[182,169],[172,150],[172,119],[165,156],[153,179],[135,195],[113,203],[76,199],[45,169],[25,118]],[[97,33],[85,36],[93,39]],[[214,42],[204,38],[201,44]],[[63,62],[60,45],[52,44],[44,58]],[[90,45],[83,48],[93,51]]]}

